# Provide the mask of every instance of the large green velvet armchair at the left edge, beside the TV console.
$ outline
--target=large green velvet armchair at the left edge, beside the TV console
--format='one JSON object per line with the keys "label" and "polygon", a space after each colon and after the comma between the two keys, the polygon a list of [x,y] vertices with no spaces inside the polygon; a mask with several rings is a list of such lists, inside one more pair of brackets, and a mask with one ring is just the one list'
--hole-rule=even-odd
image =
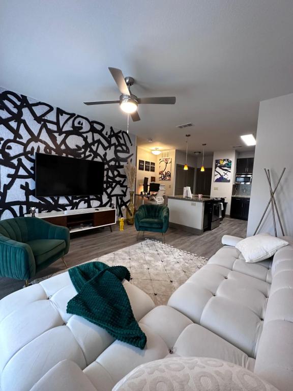
{"label": "large green velvet armchair at the left edge, beside the TV console", "polygon": [[68,253],[68,228],[37,217],[0,221],[0,276],[28,280]]}

